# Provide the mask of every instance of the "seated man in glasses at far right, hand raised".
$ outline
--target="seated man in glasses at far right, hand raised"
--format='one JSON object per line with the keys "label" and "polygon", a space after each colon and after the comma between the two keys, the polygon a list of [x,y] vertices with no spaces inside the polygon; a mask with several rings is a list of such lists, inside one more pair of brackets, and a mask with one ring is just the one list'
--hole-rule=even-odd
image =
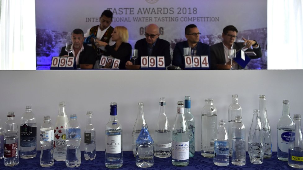
{"label": "seated man in glasses at far right, hand raised", "polygon": [[[238,30],[233,25],[228,25],[223,29],[223,41],[210,46],[211,69],[217,69],[217,64],[230,64],[228,59],[228,49],[239,50],[245,46],[247,51],[254,51],[257,55],[250,56],[251,59],[262,57],[262,52],[256,40],[246,40],[244,42],[234,42],[237,39]],[[251,46],[253,49],[251,49]],[[235,63],[235,65],[234,65]],[[233,62],[233,69],[243,69],[236,62]]]}

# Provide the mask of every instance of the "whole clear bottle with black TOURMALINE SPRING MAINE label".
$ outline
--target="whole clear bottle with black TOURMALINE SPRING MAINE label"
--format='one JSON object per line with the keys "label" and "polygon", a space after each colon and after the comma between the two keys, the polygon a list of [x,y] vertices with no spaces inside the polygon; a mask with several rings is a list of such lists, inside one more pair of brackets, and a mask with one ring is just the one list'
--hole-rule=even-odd
{"label": "whole clear bottle with black TOURMALINE SPRING MAINE label", "polygon": [[37,156],[37,122],[31,106],[25,107],[20,119],[20,158]]}

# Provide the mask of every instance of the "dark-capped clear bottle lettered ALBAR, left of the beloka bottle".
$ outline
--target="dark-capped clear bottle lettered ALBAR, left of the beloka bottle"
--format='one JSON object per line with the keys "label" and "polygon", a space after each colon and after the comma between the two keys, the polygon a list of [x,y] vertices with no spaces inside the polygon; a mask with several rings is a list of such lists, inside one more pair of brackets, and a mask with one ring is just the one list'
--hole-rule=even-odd
{"label": "dark-capped clear bottle lettered ALBAR, left of the beloka bottle", "polygon": [[160,114],[154,133],[154,156],[168,158],[171,156],[171,129],[165,114],[165,98],[160,98]]}

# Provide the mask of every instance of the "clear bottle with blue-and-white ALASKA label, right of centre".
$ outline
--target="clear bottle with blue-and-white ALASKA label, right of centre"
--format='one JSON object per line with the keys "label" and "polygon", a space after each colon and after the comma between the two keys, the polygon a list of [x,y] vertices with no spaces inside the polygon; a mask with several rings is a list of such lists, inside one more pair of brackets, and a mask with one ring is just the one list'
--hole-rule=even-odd
{"label": "clear bottle with blue-and-white ALASKA label, right of centre", "polygon": [[225,120],[219,120],[219,127],[214,142],[214,164],[227,166],[229,164],[229,141],[225,129]]}

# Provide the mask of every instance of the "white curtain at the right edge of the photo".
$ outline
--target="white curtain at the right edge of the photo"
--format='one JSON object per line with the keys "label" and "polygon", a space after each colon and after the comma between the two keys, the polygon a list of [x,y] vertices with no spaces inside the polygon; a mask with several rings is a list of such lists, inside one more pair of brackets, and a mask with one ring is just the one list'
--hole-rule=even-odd
{"label": "white curtain at the right edge of the photo", "polygon": [[303,1],[267,2],[268,69],[303,69]]}

